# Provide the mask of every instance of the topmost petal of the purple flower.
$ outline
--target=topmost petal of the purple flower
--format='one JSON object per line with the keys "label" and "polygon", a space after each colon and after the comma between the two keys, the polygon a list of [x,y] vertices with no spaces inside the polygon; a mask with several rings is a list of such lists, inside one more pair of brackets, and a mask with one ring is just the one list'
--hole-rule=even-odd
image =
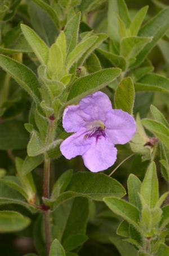
{"label": "topmost petal of the purple flower", "polygon": [[93,120],[105,121],[106,112],[112,110],[112,103],[109,97],[102,92],[88,95],[79,102],[79,107]]}

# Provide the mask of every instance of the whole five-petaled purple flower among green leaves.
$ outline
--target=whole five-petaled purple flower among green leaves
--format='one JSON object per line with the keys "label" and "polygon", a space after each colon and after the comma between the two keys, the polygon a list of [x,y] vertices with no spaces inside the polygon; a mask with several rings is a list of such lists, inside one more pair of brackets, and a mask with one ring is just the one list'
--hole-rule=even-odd
{"label": "whole five-petaled purple flower among green leaves", "polygon": [[66,107],[63,127],[74,134],[61,143],[61,153],[67,159],[82,155],[84,165],[92,172],[112,166],[117,158],[114,145],[126,144],[136,132],[134,118],[112,109],[110,99],[102,92]]}

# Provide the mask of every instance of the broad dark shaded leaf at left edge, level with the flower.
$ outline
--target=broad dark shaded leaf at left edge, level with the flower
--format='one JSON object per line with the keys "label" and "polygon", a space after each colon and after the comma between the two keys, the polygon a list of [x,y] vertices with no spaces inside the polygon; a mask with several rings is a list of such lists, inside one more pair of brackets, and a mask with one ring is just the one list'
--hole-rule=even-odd
{"label": "broad dark shaded leaf at left edge, level with the flower", "polygon": [[0,149],[24,149],[29,141],[29,134],[19,120],[8,120],[0,124]]}

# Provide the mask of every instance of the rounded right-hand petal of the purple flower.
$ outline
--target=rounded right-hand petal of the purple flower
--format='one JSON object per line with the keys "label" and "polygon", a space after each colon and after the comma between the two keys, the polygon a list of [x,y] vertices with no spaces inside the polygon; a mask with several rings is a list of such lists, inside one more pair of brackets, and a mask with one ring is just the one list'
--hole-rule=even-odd
{"label": "rounded right-hand petal of the purple flower", "polygon": [[126,144],[136,132],[135,119],[122,110],[113,110],[107,114],[105,133],[113,144]]}

